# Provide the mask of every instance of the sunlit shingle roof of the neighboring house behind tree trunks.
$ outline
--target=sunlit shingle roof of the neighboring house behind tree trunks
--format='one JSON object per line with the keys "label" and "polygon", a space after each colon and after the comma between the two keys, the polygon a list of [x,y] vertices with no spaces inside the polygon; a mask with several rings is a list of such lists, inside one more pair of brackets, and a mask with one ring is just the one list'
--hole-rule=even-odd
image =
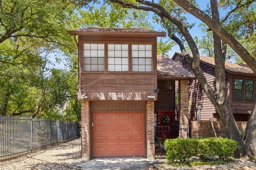
{"label": "sunlit shingle roof of the neighboring house behind tree trunks", "polygon": [[[174,59],[175,56],[182,56],[180,53],[175,53],[172,57]],[[200,61],[204,64],[215,67],[215,62],[213,57],[200,56]],[[230,62],[225,62],[225,69],[229,73],[233,74],[254,74],[253,71],[245,64],[234,64]]]}

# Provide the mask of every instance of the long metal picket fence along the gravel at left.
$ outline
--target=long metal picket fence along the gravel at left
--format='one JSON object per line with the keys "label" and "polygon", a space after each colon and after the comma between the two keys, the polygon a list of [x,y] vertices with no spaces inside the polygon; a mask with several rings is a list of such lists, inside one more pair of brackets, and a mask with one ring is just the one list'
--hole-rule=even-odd
{"label": "long metal picket fence along the gravel at left", "polygon": [[0,116],[0,160],[78,137],[78,123]]}

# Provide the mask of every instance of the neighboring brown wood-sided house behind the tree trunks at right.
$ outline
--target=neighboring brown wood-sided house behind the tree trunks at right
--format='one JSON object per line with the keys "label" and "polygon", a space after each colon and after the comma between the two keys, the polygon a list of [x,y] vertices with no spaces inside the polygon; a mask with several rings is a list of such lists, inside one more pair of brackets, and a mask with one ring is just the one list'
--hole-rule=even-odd
{"label": "neighboring brown wood-sided house behind the tree trunks at right", "polygon": [[[192,72],[181,54],[175,53],[172,60]],[[207,82],[215,90],[214,58],[201,56],[200,61]],[[237,65],[226,62],[225,66],[229,106],[236,121],[247,121],[255,104],[256,75],[246,64]],[[198,109],[201,111],[199,116],[197,116]],[[220,120],[217,111],[199,85],[198,80],[189,83],[189,115],[189,121]]]}

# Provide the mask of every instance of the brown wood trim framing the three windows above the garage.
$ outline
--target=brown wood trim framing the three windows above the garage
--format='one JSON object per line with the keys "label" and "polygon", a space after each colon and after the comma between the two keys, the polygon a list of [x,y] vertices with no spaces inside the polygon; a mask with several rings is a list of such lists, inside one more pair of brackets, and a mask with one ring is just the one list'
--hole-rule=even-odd
{"label": "brown wood trim framing the three windows above the garage", "polygon": [[[139,73],[139,74],[155,74],[156,73],[156,63],[157,63],[157,54],[156,54],[156,42],[151,40],[145,41],[134,41],[134,40],[79,40],[78,41],[78,64],[80,73],[102,73],[102,71],[84,71],[84,48],[83,44],[104,44],[105,45],[105,63],[104,63],[104,72],[106,73]],[[108,71],[108,44],[128,44],[128,71]],[[152,45],[152,70],[150,72],[135,72],[132,71],[132,44],[150,44]],[[80,47],[82,46],[82,48]]]}

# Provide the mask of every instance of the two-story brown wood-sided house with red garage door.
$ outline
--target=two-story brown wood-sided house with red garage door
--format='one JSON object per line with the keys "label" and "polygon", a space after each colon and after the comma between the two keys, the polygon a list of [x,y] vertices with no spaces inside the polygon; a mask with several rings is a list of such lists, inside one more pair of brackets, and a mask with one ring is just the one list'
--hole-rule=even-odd
{"label": "two-story brown wood-sided house with red garage door", "polygon": [[[157,56],[157,37],[164,32],[86,28],[69,33],[78,47],[83,159],[154,159],[155,126],[188,125],[188,82],[194,75],[171,58]],[[186,131],[175,135],[186,138]]]}

